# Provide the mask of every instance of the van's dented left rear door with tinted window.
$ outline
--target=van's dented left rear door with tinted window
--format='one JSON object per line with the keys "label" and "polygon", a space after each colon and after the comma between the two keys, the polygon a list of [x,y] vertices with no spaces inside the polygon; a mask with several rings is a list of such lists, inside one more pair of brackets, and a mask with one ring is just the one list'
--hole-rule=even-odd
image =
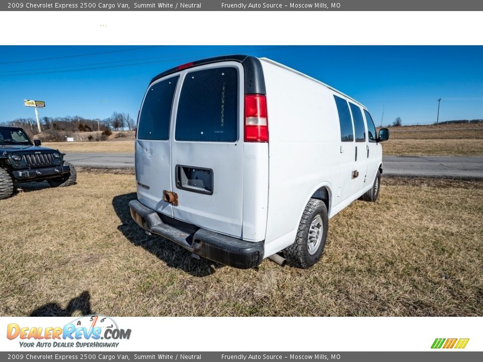
{"label": "van's dented left rear door with tinted window", "polygon": [[163,201],[171,185],[171,119],[180,75],[149,85],[139,113],[135,145],[136,183],[139,202],[173,217],[173,207]]}

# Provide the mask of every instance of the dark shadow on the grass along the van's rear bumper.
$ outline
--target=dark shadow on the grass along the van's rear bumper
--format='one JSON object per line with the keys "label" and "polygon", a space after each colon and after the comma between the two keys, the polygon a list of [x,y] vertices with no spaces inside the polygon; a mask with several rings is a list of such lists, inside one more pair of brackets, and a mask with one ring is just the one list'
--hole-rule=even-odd
{"label": "dark shadow on the grass along the van's rear bumper", "polygon": [[145,250],[166,262],[168,266],[178,268],[195,277],[206,277],[215,272],[223,265],[207,259],[195,259],[191,253],[157,235],[146,235],[144,230],[138,226],[131,217],[129,201],[136,200],[136,193],[115,196],[112,199],[112,206],[121,220],[118,230],[134,245],[142,246]]}

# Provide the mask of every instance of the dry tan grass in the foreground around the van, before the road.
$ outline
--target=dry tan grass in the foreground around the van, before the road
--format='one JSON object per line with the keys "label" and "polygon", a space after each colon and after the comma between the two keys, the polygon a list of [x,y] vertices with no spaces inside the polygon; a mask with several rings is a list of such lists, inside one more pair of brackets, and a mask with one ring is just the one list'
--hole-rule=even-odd
{"label": "dry tan grass in the foreground around the van, before the road", "polygon": [[134,224],[129,171],[0,201],[0,315],[481,316],[483,182],[383,178],[311,269],[191,258]]}

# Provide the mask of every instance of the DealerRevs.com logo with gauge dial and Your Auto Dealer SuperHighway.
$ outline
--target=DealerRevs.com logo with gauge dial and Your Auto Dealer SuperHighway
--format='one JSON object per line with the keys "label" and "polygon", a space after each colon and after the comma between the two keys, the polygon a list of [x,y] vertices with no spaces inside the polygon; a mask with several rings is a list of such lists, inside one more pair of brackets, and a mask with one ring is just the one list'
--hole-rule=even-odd
{"label": "DealerRevs.com logo with gauge dial and Your Auto Dealer SuperHighway", "polygon": [[120,329],[103,315],[84,316],[63,327],[24,327],[16,323],[7,326],[7,338],[18,338],[21,347],[118,347],[119,340],[130,336],[131,329]]}

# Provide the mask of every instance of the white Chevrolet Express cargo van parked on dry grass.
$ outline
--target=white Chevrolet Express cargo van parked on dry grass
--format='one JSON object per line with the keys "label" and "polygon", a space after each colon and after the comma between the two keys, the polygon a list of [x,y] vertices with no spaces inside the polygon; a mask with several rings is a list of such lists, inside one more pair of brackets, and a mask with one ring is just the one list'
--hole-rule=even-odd
{"label": "white Chevrolet Express cargo van parked on dry grass", "polygon": [[388,136],[357,101],[270,59],[184,64],[144,95],[131,215],[222,264],[250,268],[281,252],[306,268],[332,216],[376,201]]}

